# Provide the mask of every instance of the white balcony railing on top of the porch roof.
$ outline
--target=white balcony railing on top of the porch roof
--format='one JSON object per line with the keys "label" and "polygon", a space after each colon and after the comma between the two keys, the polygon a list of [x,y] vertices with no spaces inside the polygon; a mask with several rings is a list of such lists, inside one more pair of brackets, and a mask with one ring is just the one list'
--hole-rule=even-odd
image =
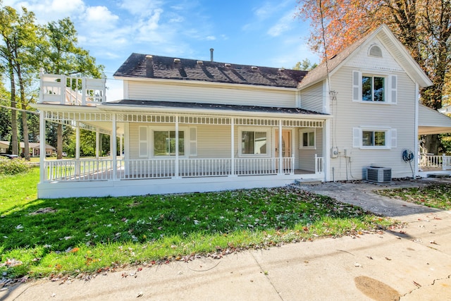
{"label": "white balcony railing on top of the porch roof", "polygon": [[43,72],[39,74],[41,77],[39,103],[93,106],[106,102],[104,78],[78,78]]}

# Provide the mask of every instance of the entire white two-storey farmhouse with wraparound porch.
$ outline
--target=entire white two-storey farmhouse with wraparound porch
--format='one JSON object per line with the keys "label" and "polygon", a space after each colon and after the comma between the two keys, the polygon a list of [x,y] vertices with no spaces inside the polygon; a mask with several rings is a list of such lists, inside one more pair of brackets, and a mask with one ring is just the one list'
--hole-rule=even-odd
{"label": "entire white two-storey farmhouse with wraparound porch", "polygon": [[419,90],[431,85],[385,25],[308,73],[132,54],[114,76],[123,99],[106,102],[104,80],[91,79],[68,102],[66,87],[79,79],[42,74],[41,129],[46,121],[72,125],[77,145],[80,128],[106,133],[121,137],[119,152],[111,139],[111,154],[124,151],[42,156],[39,197],[358,180],[367,166],[412,176],[402,152],[418,154]]}

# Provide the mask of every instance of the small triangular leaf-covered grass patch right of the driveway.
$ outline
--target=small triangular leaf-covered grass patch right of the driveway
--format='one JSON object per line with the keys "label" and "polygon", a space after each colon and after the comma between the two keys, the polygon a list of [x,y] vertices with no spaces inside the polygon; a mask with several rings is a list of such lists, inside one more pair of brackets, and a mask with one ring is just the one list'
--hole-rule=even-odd
{"label": "small triangular leaf-covered grass patch right of the driveway", "polygon": [[401,199],[406,202],[427,207],[450,210],[451,186],[449,184],[433,184],[418,188],[397,188],[393,190],[376,190],[379,195]]}

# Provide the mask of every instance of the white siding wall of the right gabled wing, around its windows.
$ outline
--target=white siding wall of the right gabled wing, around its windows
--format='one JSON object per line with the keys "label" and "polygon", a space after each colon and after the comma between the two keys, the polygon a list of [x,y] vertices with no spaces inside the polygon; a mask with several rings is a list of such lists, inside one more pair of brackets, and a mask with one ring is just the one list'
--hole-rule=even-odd
{"label": "white siding wall of the right gabled wing, around its windows", "polygon": [[[364,56],[368,57],[366,53]],[[384,54],[384,59],[387,56]],[[380,73],[386,74],[386,68],[381,65]],[[371,73],[378,74],[376,67],[373,69]],[[339,154],[338,158],[330,159],[328,180],[362,179],[362,171],[372,164],[392,168],[394,178],[412,176],[410,167],[402,161],[401,152],[402,149],[415,149],[415,83],[406,73],[390,70],[390,75],[395,75],[396,89],[393,87],[392,92],[395,90],[396,105],[354,102],[354,89],[350,81],[355,74],[353,71],[356,71],[355,66],[342,66],[330,78],[330,88],[337,92],[337,100],[333,102],[334,121],[333,129],[330,128],[330,140],[334,141],[334,147],[338,147]],[[393,78],[391,80],[394,81]],[[387,85],[390,86],[390,76]],[[362,126],[390,128],[390,149],[361,149],[360,137],[353,134],[353,129]],[[318,137],[316,141],[319,142]],[[352,149],[350,159],[344,156],[344,149]]]}

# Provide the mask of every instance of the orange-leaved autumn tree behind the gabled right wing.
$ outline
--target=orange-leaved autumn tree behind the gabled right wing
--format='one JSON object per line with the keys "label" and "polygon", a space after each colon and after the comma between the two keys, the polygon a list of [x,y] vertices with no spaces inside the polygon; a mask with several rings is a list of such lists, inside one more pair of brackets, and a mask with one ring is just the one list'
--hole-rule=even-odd
{"label": "orange-leaved autumn tree behind the gabled right wing", "polygon": [[[298,0],[298,4],[297,16],[311,21],[309,44],[323,57],[387,24],[433,82],[421,91],[421,102],[441,108],[451,65],[450,0]],[[426,136],[428,152],[438,152],[437,142],[438,135]]]}

